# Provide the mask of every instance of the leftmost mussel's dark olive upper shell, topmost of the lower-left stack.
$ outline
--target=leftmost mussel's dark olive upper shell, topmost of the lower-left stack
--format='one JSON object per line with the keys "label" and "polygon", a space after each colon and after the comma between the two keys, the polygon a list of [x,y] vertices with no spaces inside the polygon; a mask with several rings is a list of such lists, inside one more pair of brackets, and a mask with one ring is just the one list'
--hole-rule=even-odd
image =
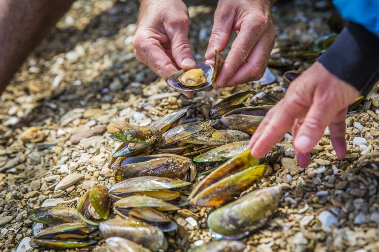
{"label": "leftmost mussel's dark olive upper shell, topmost of the lower-left stack", "polygon": [[75,208],[70,207],[40,207],[31,210],[27,219],[46,225],[58,225],[67,222],[82,221]]}

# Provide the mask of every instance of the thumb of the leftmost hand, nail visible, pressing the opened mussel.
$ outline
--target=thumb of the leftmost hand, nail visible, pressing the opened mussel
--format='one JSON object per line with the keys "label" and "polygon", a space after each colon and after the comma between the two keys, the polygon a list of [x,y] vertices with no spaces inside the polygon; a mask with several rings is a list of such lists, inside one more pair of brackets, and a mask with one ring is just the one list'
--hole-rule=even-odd
{"label": "thumb of the leftmost hand, nail visible, pressing the opened mussel", "polygon": [[194,56],[188,40],[188,19],[177,21],[174,27],[166,29],[171,41],[172,56],[179,68],[188,70],[195,67]]}

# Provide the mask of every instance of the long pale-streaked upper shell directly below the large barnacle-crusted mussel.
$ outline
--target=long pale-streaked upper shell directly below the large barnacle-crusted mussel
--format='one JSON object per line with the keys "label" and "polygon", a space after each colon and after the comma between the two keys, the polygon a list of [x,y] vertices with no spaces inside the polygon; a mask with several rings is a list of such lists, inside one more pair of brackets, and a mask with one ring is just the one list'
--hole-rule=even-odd
{"label": "long pale-streaked upper shell directly below the large barnacle-crusted mussel", "polygon": [[133,177],[117,184],[114,184],[109,192],[112,195],[121,197],[122,195],[127,195],[131,193],[144,192],[144,191],[157,191],[161,189],[173,189],[180,188],[191,183],[182,181],[179,179],[172,179],[167,177],[155,177],[155,176],[144,176],[144,177]]}

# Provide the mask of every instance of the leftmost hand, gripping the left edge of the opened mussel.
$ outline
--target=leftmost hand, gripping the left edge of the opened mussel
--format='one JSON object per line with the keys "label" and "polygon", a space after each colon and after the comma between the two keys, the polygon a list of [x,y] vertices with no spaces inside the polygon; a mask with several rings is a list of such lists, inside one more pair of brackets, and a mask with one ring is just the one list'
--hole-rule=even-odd
{"label": "leftmost hand, gripping the left edge of the opened mussel", "polygon": [[[189,16],[180,0],[141,0],[138,26],[134,36],[136,58],[157,75],[166,78],[195,67],[188,41]],[[192,92],[183,92],[192,97]]]}

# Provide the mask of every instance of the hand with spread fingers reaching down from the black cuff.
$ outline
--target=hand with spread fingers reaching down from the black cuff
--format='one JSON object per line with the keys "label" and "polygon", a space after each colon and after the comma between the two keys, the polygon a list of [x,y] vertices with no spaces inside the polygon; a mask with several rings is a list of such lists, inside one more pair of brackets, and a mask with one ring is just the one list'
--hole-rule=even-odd
{"label": "hand with spread fingers reaching down from the black cuff", "polygon": [[251,155],[264,156],[292,128],[295,153],[299,164],[305,167],[310,162],[309,152],[329,125],[331,143],[337,157],[343,159],[347,108],[359,95],[353,86],[316,61],[291,83],[285,97],[259,124],[250,140]]}

